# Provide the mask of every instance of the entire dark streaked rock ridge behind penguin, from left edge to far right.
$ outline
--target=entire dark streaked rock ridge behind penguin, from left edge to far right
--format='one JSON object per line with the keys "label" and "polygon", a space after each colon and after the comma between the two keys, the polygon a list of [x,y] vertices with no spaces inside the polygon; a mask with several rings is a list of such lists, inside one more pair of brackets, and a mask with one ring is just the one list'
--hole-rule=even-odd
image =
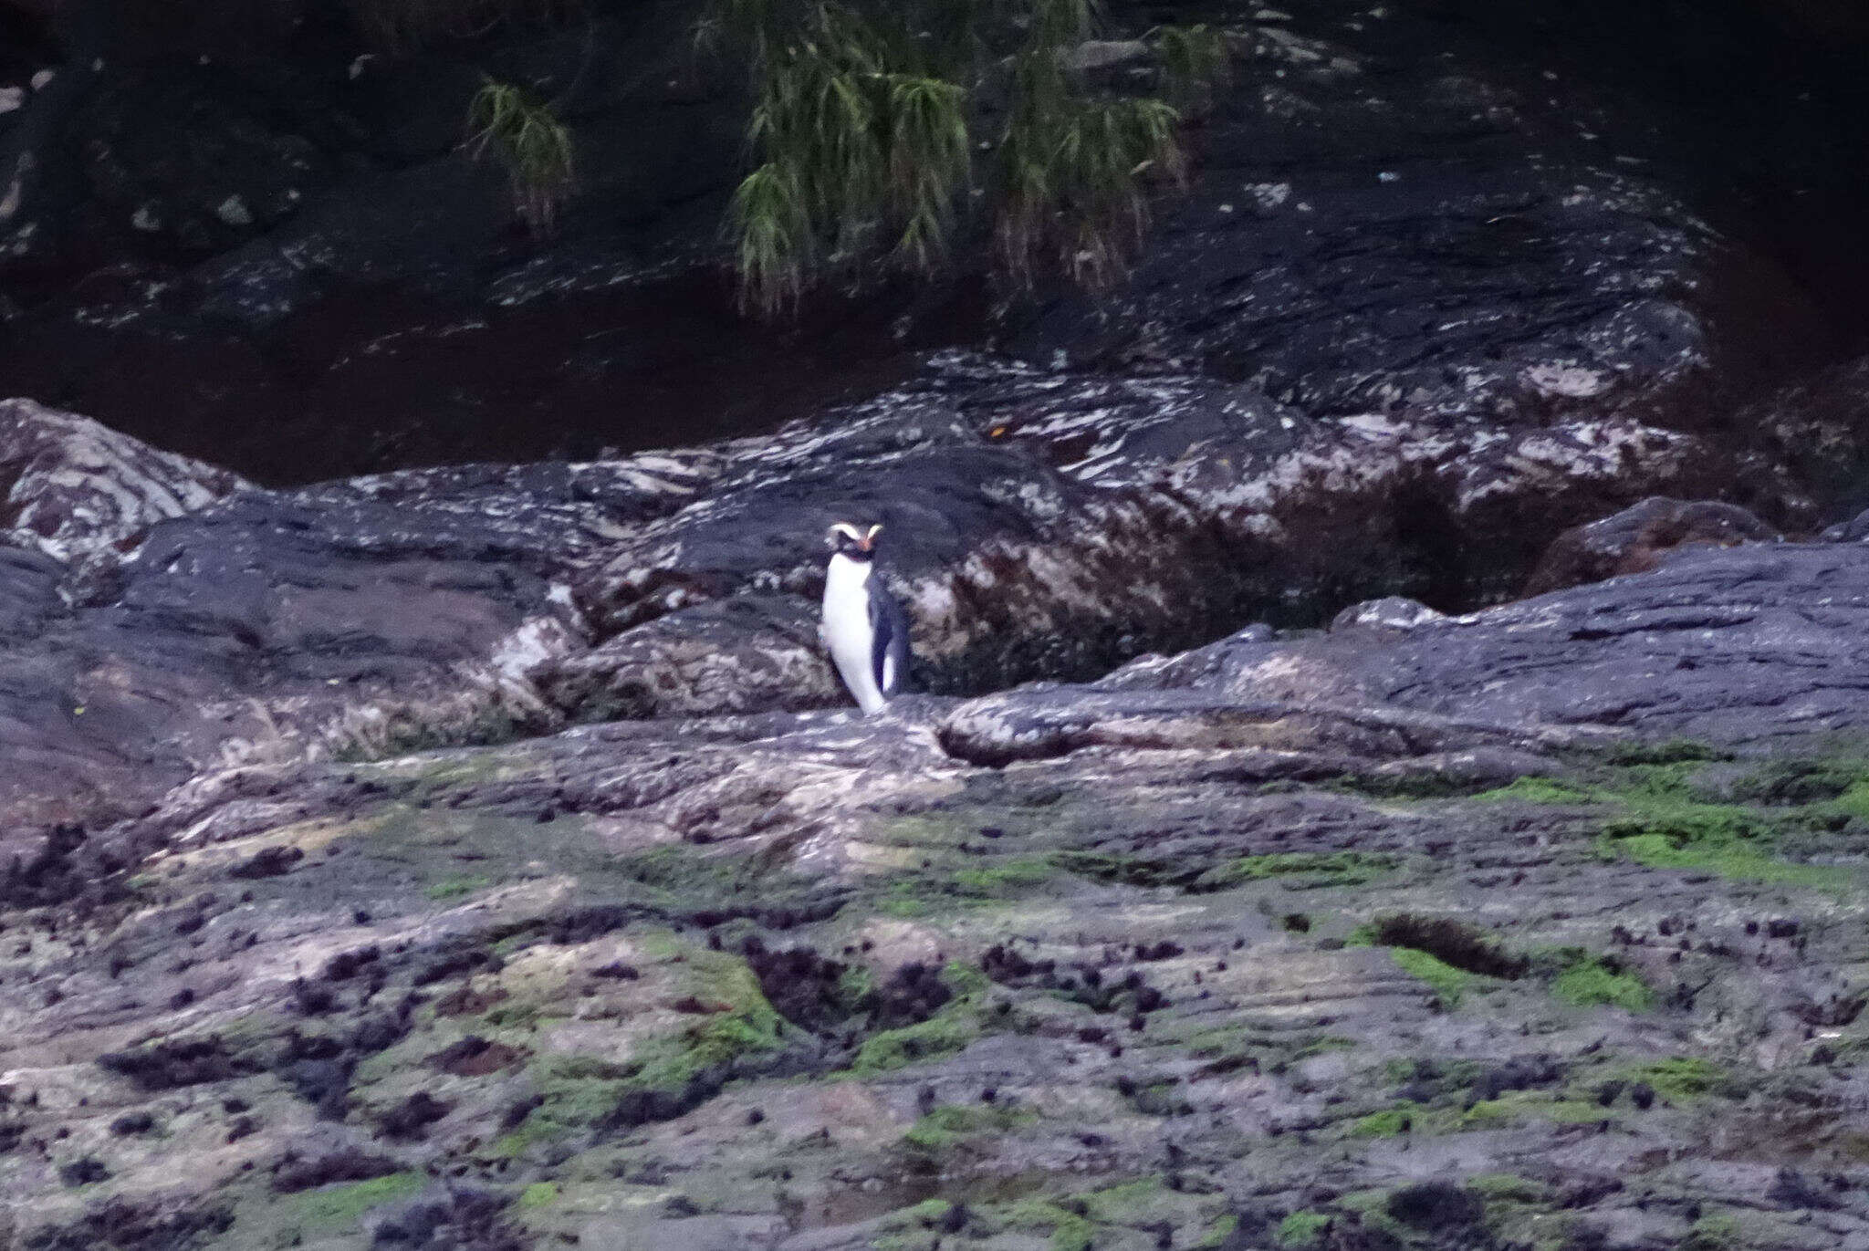
{"label": "entire dark streaked rock ridge behind penguin, from left edge to far right", "polygon": [[[60,761],[9,780],[22,830],[237,761],[841,705],[815,641],[841,518],[886,525],[921,684],[972,694],[1357,595],[1490,598],[1501,546],[1635,484],[1691,488],[1712,458],[1626,421],[1312,421],[1204,378],[977,355],[693,453],[284,492],[121,436],[99,467],[75,421],[37,417],[13,490],[32,542],[75,557],[22,565],[0,660],[17,741]],[[108,785],[75,785],[92,769]]]}

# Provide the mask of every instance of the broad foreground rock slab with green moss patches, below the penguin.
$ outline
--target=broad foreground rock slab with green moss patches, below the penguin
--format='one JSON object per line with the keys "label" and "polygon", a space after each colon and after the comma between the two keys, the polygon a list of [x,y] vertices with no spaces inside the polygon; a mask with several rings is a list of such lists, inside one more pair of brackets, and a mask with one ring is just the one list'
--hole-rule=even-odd
{"label": "broad foreground rock slab with green moss patches, below the penguin", "polygon": [[869,720],[204,772],[7,877],[15,1229],[1869,1245],[1865,613],[1856,544],[1693,550]]}

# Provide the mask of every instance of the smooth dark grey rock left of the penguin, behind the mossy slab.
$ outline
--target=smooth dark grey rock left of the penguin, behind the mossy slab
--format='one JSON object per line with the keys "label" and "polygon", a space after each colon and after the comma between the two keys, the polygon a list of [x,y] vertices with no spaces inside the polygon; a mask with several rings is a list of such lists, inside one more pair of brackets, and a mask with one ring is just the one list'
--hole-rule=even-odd
{"label": "smooth dark grey rock left of the penguin, behind the mossy slab", "polygon": [[[95,479],[54,466],[47,481],[116,505],[135,501],[135,464]],[[99,548],[107,559],[82,570],[9,557],[0,741],[19,754],[0,772],[0,828],[120,815],[241,759],[555,726],[529,675],[587,641],[570,570],[712,464],[695,453],[243,490],[159,520],[125,552]],[[148,510],[176,497],[157,486]],[[103,524],[71,533],[114,537]]]}

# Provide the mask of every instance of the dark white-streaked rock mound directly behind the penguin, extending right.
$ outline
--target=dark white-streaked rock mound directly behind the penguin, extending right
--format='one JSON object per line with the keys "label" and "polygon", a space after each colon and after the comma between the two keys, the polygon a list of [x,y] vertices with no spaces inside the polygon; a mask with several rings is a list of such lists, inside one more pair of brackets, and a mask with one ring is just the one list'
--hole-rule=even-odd
{"label": "dark white-streaked rock mound directly behind the penguin, extending right", "polygon": [[[1316,621],[1357,591],[1484,602],[1505,593],[1501,568],[1566,518],[1598,516],[1635,484],[1719,473],[1693,436],[1630,423],[1516,436],[1325,423],[1250,387],[972,355],[936,359],[914,387],[839,413],[832,432],[796,426],[729,449],[703,499],[619,544],[579,585],[617,641],[553,677],[561,705],[604,707],[602,692],[630,688],[624,707],[699,711],[680,690],[680,654],[721,636],[716,610],[695,625],[688,613],[725,597],[813,598],[820,535],[849,516],[886,527],[921,681],[968,692],[1088,677],[1254,615]],[[806,611],[742,606],[755,636],[794,651],[785,673],[822,669],[796,630]]]}

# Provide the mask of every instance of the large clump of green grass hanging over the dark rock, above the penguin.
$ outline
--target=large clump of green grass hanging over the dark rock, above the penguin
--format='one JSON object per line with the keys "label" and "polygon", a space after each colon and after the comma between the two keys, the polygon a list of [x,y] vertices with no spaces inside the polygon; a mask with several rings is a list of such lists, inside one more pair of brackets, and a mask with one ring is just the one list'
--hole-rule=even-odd
{"label": "large clump of green grass hanging over the dark rock, above the penguin", "polygon": [[[1086,286],[1121,277],[1149,191],[1185,178],[1181,112],[1069,67],[1099,24],[1093,0],[716,0],[697,41],[746,49],[757,95],[757,163],[729,213],[742,309],[791,312],[811,280],[863,260],[934,275],[987,221],[1022,284],[1037,266]],[[1206,26],[1157,45],[1176,99],[1206,99],[1232,64]]]}

